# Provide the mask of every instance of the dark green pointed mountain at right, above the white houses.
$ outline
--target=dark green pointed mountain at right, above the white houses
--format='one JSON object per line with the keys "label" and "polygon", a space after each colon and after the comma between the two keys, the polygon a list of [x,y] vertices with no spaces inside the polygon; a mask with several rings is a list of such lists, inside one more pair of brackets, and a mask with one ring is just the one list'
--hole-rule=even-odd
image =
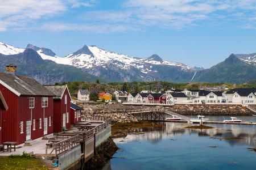
{"label": "dark green pointed mountain at right, above the white houses", "polygon": [[231,54],[210,69],[197,71],[193,82],[243,83],[253,79],[256,79],[256,67]]}

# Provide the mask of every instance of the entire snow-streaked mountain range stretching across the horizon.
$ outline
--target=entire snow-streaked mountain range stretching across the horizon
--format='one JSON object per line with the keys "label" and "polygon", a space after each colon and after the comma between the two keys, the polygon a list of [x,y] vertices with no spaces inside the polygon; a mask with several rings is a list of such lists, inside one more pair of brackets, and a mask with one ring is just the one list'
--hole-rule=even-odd
{"label": "entire snow-streaked mountain range stretching across the horizon", "polygon": [[[0,71],[14,63],[22,75],[40,83],[86,80],[92,82],[152,81],[243,83],[256,79],[256,53],[231,54],[224,62],[203,69],[171,62],[154,54],[148,58],[131,57],[84,45],[65,57],[51,49],[28,44],[26,49],[0,42]],[[18,72],[18,73],[19,73]]]}

